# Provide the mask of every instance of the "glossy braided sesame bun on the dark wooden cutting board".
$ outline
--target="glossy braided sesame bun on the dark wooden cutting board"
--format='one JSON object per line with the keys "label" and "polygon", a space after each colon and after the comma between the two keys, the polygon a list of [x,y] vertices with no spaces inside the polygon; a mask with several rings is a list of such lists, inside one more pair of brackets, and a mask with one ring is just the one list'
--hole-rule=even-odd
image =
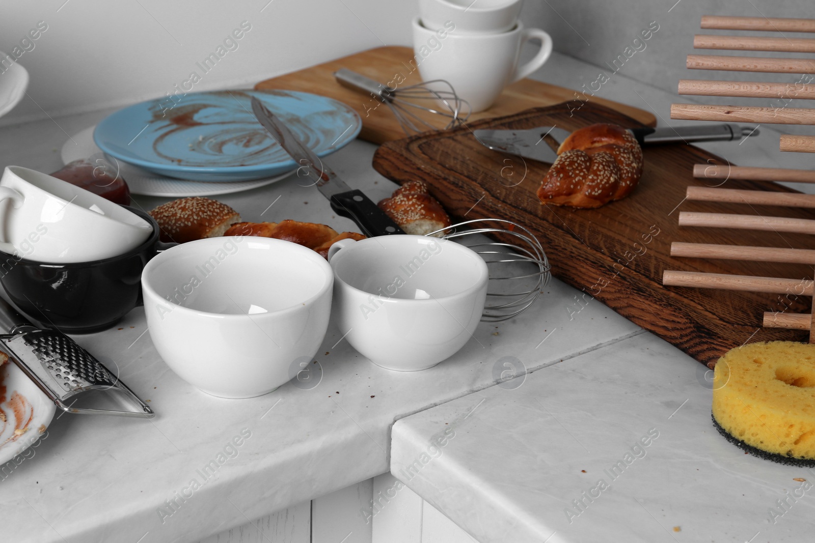
{"label": "glossy braided sesame bun on the dark wooden cutting board", "polygon": [[642,175],[642,148],[628,130],[598,123],[575,130],[538,189],[542,204],[599,208],[624,198]]}

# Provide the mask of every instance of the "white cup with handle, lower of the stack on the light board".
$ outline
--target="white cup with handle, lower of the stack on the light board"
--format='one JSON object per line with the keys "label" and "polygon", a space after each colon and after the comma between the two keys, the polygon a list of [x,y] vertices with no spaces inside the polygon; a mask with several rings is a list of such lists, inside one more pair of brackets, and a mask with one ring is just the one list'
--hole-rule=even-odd
{"label": "white cup with handle, lower of the stack on the light board", "polygon": [[[490,107],[505,86],[535,72],[552,55],[552,37],[540,28],[524,28],[520,21],[504,33],[457,34],[456,29],[447,21],[445,28],[431,30],[417,17],[413,53],[422,79],[450,83],[471,112]],[[540,42],[540,50],[519,64],[522,45],[532,40]]]}

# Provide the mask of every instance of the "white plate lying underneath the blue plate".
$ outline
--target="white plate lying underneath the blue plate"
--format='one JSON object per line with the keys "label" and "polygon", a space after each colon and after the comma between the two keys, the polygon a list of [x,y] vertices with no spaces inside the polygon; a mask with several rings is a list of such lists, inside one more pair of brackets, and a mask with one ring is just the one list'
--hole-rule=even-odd
{"label": "white plate lying underneath the blue plate", "polygon": [[[94,129],[95,126],[90,126],[81,132],[74,134],[72,139],[68,139],[62,146],[62,161],[64,164],[73,162],[74,160],[92,159],[102,160],[104,153],[94,143]],[[127,182],[130,187],[130,192],[134,195],[145,196],[165,196],[171,198],[179,198],[183,196],[212,196],[212,195],[226,195],[232,192],[240,192],[242,190],[249,190],[257,188],[258,186],[269,185],[275,181],[280,181],[285,177],[289,177],[291,172],[284,173],[276,177],[269,177],[267,179],[254,179],[253,181],[236,181],[236,182],[197,182],[197,181],[183,181],[181,179],[173,179],[171,177],[163,177],[150,173],[146,170],[126,164],[116,159],[108,158],[108,164],[112,164],[114,168],[118,167],[119,174]]]}

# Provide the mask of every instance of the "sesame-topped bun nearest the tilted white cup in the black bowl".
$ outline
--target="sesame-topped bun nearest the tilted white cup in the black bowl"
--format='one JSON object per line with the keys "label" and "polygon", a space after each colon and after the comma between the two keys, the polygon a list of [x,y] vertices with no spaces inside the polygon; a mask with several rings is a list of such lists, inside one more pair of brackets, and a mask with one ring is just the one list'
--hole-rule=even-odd
{"label": "sesame-topped bun nearest the tilted white cup in the black bowl", "polygon": [[218,200],[195,196],[162,204],[150,212],[161,227],[161,241],[187,243],[222,236],[240,214]]}

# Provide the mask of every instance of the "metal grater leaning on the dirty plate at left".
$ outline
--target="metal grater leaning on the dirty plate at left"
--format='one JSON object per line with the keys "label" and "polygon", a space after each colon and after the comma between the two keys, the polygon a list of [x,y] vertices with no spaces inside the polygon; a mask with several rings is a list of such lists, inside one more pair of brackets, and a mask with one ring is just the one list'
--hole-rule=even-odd
{"label": "metal grater leaning on the dirty plate at left", "polygon": [[155,413],[62,332],[37,328],[0,299],[0,349],[68,413],[152,418]]}

